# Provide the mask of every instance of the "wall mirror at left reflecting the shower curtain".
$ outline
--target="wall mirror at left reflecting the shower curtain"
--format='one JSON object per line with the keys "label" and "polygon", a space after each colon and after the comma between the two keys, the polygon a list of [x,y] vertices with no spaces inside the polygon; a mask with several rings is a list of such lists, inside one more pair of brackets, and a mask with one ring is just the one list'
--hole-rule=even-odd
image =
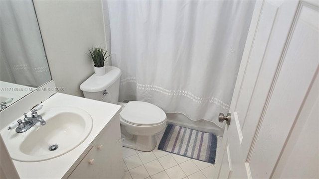
{"label": "wall mirror at left reflecting the shower curtain", "polygon": [[1,110],[51,80],[32,0],[0,0]]}

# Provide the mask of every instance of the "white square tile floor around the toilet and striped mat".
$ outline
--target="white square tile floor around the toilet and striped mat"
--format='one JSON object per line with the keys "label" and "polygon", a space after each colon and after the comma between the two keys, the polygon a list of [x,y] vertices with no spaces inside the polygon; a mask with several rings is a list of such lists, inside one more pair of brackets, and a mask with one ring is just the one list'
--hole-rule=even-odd
{"label": "white square tile floor around the toilet and striped mat", "polygon": [[[157,145],[165,129],[157,134]],[[221,137],[217,136],[216,159]],[[123,179],[213,179],[215,166],[187,157],[158,150],[142,152],[126,147],[123,149]]]}

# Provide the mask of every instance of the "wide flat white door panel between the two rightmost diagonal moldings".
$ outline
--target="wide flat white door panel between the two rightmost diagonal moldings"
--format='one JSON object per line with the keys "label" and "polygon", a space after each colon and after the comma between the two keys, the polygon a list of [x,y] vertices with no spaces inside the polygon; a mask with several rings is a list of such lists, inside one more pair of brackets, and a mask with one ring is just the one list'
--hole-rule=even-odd
{"label": "wide flat white door panel between the two rightmost diagonal moldings", "polygon": [[317,73],[318,11],[301,3],[298,12],[249,160],[253,178],[271,175]]}

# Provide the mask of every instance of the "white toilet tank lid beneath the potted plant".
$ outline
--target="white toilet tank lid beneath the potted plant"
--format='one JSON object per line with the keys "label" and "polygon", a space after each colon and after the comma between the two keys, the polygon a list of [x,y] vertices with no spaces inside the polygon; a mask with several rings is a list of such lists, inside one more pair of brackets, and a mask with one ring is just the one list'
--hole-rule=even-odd
{"label": "white toilet tank lid beneath the potted plant", "polygon": [[117,67],[106,66],[105,75],[96,76],[93,74],[80,86],[82,91],[86,92],[98,92],[109,88],[121,77],[121,70]]}

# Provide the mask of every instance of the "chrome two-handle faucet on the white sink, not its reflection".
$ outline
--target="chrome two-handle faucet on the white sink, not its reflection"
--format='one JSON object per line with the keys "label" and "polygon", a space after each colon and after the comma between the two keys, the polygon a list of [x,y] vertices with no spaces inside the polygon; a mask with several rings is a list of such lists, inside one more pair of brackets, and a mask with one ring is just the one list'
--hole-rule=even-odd
{"label": "chrome two-handle faucet on the white sink, not its reflection", "polygon": [[24,122],[22,122],[21,119],[17,120],[16,122],[13,122],[9,125],[8,130],[15,128],[15,132],[22,133],[30,129],[32,126],[34,126],[37,122],[40,122],[41,125],[45,125],[46,122],[44,119],[42,119],[41,115],[37,114],[37,111],[42,109],[43,105],[37,105],[35,108],[31,110],[31,117],[27,117],[26,113],[24,113]]}

